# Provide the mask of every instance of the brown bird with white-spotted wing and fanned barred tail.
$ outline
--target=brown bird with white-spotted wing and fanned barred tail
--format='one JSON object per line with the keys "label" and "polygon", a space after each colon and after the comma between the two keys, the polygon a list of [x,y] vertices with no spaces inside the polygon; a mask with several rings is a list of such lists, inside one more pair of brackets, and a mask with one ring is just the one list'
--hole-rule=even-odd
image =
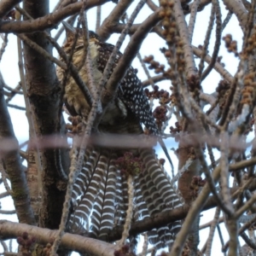
{"label": "brown bird with white-spotted wing and fanned barred tail", "polygon": [[[67,40],[62,49],[69,57],[76,35],[76,29],[63,23]],[[95,84],[102,78],[104,68],[114,49],[95,33],[89,31],[89,47],[91,70]],[[79,29],[79,37],[74,45],[72,62],[80,67],[79,75],[84,84],[88,85],[88,73],[82,65],[84,51],[83,31]],[[113,68],[119,63],[121,52],[115,57]],[[113,69],[112,69],[113,72]],[[65,71],[56,68],[57,77],[63,81]],[[68,76],[64,102],[68,112],[81,119],[88,117],[90,103],[86,101],[78,84]],[[86,124],[86,121],[85,121]],[[113,102],[110,102],[98,125],[99,134],[140,136],[143,135],[143,125],[149,133],[159,135],[154,122],[148,98],[137,77],[137,71],[129,67],[120,81]],[[149,135],[145,135],[145,137]],[[182,199],[173,188],[171,179],[157,159],[154,148],[115,148],[109,145],[89,145],[84,154],[84,164],[79,177],[73,185],[72,205],[68,231],[92,236],[108,241],[108,235],[117,225],[124,225],[128,207],[127,176],[118,165],[121,157],[131,157],[138,160],[141,170],[133,177],[134,198],[132,221],[142,220],[155,213],[170,211],[182,206]],[[148,231],[148,241],[161,248],[172,245],[181,228],[181,221],[175,221],[164,227]],[[129,238],[130,242],[132,238]]]}

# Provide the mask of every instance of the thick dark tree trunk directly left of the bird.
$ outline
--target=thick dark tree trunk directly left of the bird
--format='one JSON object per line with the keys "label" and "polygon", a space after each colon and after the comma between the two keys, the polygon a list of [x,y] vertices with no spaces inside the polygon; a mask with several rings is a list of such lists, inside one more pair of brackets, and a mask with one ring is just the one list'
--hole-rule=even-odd
{"label": "thick dark tree trunk directly left of the bird", "polygon": [[[34,19],[49,13],[49,1],[25,1],[24,9]],[[52,47],[43,33],[28,34],[32,41],[52,54]],[[55,75],[55,66],[44,56],[24,45],[26,61],[27,93],[31,105],[32,121],[36,136],[53,135],[59,131],[59,108],[61,90]],[[41,166],[40,184],[42,196],[39,225],[49,229],[57,229],[60,224],[61,210],[65,191],[58,189],[58,175],[55,166],[55,151],[42,148],[39,151]]]}

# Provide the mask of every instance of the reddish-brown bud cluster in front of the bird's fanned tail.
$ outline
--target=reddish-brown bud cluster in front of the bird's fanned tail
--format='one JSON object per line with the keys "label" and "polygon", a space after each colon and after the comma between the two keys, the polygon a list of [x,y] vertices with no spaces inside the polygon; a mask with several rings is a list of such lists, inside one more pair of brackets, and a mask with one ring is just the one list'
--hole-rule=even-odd
{"label": "reddish-brown bud cluster in front of the bird's fanned tail", "polygon": [[144,167],[142,160],[135,157],[131,152],[125,152],[124,156],[119,157],[115,161],[115,164],[127,176],[137,176],[140,172],[143,172]]}

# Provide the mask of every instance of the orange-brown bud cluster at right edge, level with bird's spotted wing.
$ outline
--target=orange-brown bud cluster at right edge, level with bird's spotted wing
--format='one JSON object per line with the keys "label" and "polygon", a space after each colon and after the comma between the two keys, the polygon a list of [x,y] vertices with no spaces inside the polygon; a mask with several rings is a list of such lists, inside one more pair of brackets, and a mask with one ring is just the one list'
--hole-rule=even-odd
{"label": "orange-brown bud cluster at right edge, level with bird's spotted wing", "polygon": [[241,90],[241,105],[248,104],[253,107],[255,101],[256,82],[254,82],[255,73],[247,73],[244,76],[244,88]]}

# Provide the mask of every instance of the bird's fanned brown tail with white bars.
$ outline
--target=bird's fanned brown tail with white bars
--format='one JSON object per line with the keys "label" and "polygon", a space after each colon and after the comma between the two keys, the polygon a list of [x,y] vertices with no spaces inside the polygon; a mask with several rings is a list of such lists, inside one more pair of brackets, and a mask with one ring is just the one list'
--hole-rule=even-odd
{"label": "bird's fanned brown tail with white bars", "polygon": [[[144,168],[143,172],[134,177],[133,219],[148,218],[180,207],[181,201],[153,150],[139,149],[139,154]],[[116,159],[117,152],[111,152],[109,148],[90,148],[86,151],[84,167],[72,195],[75,204],[69,227],[73,233],[86,232],[106,240],[115,225],[125,223],[128,207],[127,177],[115,165]],[[148,232],[148,241],[156,248],[172,245],[180,227],[180,221],[176,221],[151,230]]]}

